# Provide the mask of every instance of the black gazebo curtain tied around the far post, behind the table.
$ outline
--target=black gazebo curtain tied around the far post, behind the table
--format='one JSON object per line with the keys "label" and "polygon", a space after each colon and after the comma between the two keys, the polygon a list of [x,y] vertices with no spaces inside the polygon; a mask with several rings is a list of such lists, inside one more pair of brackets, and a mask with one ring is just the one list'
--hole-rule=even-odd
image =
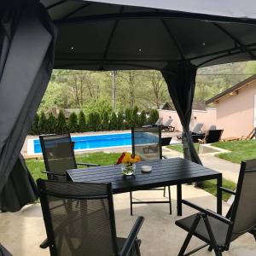
{"label": "black gazebo curtain tied around the far post, behind the table", "polygon": [[170,63],[162,70],[162,75],[166,80],[172,102],[183,125],[184,158],[201,164],[189,131],[195,93],[196,67],[189,61],[178,61]]}

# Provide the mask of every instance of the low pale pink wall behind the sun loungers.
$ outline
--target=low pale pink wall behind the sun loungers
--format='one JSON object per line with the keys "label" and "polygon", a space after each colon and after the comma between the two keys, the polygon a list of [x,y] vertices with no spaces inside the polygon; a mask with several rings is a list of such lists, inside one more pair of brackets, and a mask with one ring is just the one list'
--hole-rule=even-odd
{"label": "low pale pink wall behind the sun loungers", "polygon": [[[160,109],[159,116],[161,118],[163,118],[163,124],[165,124],[166,121],[171,116],[173,119],[172,126],[175,127],[175,130],[176,131],[183,130],[176,111]],[[190,127],[191,127],[191,129],[193,129],[193,127],[195,126],[196,123],[203,123],[204,126],[203,126],[202,130],[207,131],[207,129],[211,125],[216,125],[216,116],[217,116],[216,108],[207,108],[206,111],[192,110]]]}

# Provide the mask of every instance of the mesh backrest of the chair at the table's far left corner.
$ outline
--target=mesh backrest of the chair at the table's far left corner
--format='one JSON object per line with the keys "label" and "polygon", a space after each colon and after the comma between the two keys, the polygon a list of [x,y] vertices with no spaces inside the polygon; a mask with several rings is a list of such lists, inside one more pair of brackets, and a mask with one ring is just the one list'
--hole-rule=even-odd
{"label": "mesh backrest of the chair at the table's far left corner", "polygon": [[[39,139],[47,172],[65,174],[68,169],[77,168],[69,134],[42,135]],[[52,178],[50,175],[48,177]]]}

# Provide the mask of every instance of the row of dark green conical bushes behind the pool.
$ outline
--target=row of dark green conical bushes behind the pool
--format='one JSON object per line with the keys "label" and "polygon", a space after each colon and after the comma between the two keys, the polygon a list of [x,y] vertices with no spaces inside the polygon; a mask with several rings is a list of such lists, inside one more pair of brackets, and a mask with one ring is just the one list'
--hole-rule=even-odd
{"label": "row of dark green conical bushes behind the pool", "polygon": [[65,132],[84,132],[84,131],[114,131],[131,129],[132,126],[141,127],[143,125],[154,124],[158,119],[158,111],[150,111],[149,118],[146,112],[137,113],[138,109],[126,109],[125,113],[89,113],[85,116],[81,111],[79,115],[71,113],[66,120],[62,111],[57,118],[52,113],[47,116],[44,112],[36,114],[30,131],[31,135]]}

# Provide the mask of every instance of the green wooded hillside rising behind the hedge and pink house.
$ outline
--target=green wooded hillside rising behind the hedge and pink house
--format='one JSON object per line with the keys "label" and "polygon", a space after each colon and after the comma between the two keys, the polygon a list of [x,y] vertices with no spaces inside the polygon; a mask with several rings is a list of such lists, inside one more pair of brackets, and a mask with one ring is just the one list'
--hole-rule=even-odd
{"label": "green wooded hillside rising behind the hedge and pink house", "polygon": [[[205,102],[255,73],[255,61],[201,68],[196,80],[195,102]],[[113,79],[111,72],[55,70],[39,111],[57,106],[80,108],[85,113],[110,112],[113,91],[115,111],[135,106],[139,111],[160,108],[170,101],[166,83],[156,71],[118,71]]]}

